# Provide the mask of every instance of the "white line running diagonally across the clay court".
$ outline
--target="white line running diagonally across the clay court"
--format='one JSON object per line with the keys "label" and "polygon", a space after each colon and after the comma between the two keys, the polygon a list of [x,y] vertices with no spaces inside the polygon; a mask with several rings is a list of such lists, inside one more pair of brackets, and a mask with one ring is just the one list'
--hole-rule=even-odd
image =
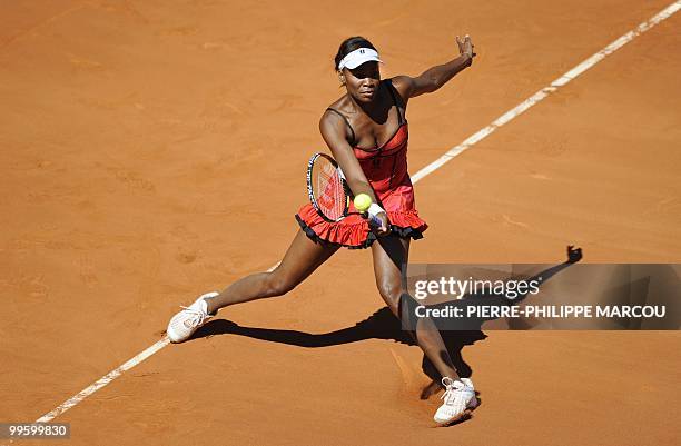
{"label": "white line running diagonally across the clay court", "polygon": [[[586,71],[588,69],[596,65],[598,62],[600,62],[601,60],[603,60],[606,56],[619,50],[620,48],[622,48],[624,44],[632,41],[638,36],[648,31],[655,24],[660,23],[662,20],[674,14],[677,11],[679,11],[679,9],[681,9],[681,0],[673,2],[672,4],[670,4],[662,11],[660,11],[658,14],[652,17],[650,20],[647,20],[643,23],[639,24],[634,30],[629,31],[624,36],[620,37],[618,40],[610,43],[608,47],[603,48],[601,51],[596,52],[589,59],[584,60],[582,63],[574,67],[572,70],[568,71],[566,73],[564,73],[563,76],[561,76],[560,78],[551,82],[551,85],[549,85],[547,87],[542,88],[540,91],[532,95],[530,98],[527,98],[526,100],[524,100],[516,107],[512,108],[511,110],[506,111],[501,117],[496,118],[494,122],[492,122],[484,129],[475,132],[474,135],[468,137],[465,141],[460,143],[458,146],[450,149],[442,157],[431,162],[428,166],[424,167],[423,169],[418,170],[414,176],[412,176],[412,181],[417,182],[418,180],[426,177],[427,175],[431,175],[433,171],[435,171],[436,169],[441,168],[444,163],[450,161],[452,158],[462,153],[464,150],[471,148],[471,146],[478,142],[480,140],[486,138],[492,132],[494,132],[497,128],[500,128],[504,123],[507,123],[509,121],[511,121],[512,119],[514,119],[515,117],[517,117],[519,115],[521,115],[522,112],[531,108],[532,106],[536,105],[537,102],[546,98],[549,95],[556,91],[560,87],[563,87],[564,85],[566,85],[568,82],[570,82],[571,80],[573,80],[574,78],[576,78],[578,76],[580,76],[581,73],[583,73],[584,71]],[[269,270],[273,270],[279,264],[273,266],[272,268],[269,268]],[[57,406],[53,410],[45,414],[43,416],[38,418],[36,423],[51,422],[52,419],[55,419],[55,417],[63,414],[71,407],[76,406],[78,403],[82,402],[88,396],[92,395],[100,388],[105,387],[106,385],[111,383],[114,379],[122,375],[125,371],[137,366],[139,363],[147,359],[149,356],[159,351],[161,348],[166,347],[168,344],[170,344],[170,341],[168,340],[167,337],[165,337],[164,339],[154,344],[151,347],[147,348],[146,350],[144,350],[142,353],[134,357],[132,359],[128,360],[122,366],[116,368],[112,371],[109,371],[107,375],[102,376],[101,378],[99,378],[97,381],[95,381],[87,388],[73,395],[72,397],[70,397],[69,399],[67,399],[66,402]]]}

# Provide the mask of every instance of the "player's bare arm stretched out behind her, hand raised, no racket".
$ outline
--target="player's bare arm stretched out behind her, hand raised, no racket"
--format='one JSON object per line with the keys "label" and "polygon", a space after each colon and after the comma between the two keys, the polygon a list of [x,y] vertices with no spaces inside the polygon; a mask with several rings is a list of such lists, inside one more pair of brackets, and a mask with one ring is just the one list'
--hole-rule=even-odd
{"label": "player's bare arm stretched out behind her, hand raised, no racket", "polygon": [[456,43],[458,44],[458,57],[456,59],[428,68],[415,78],[409,76],[396,76],[393,78],[393,85],[405,100],[436,91],[464,68],[473,63],[473,58],[476,54],[473,52],[471,37],[466,36],[460,39],[456,36]]}

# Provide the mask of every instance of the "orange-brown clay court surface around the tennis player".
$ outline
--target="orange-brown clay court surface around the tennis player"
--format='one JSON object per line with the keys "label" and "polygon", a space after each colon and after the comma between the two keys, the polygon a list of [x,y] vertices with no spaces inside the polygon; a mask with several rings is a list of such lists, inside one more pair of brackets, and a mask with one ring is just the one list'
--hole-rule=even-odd
{"label": "orange-brown clay court surface around the tennis player", "polygon": [[[409,101],[414,174],[670,3],[3,2],[0,422],[49,414],[178,305],[280,260],[346,37],[384,78],[473,38],[473,67]],[[418,180],[411,261],[556,264],[570,244],[680,262],[680,47],[675,13]],[[56,416],[53,444],[678,444],[678,331],[485,331],[462,349],[482,405],[434,428],[423,354],[384,307],[371,252],[340,250]]]}

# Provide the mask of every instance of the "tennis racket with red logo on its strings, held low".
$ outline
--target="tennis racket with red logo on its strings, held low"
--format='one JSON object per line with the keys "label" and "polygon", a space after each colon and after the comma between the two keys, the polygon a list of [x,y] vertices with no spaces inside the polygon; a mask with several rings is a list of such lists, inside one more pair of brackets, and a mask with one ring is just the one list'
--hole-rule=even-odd
{"label": "tennis racket with red logo on its strings, held low", "polygon": [[369,225],[381,227],[377,217],[349,211],[352,191],[336,160],[326,153],[315,153],[307,162],[307,195],[317,214],[326,221],[340,221],[356,214],[368,218]]}

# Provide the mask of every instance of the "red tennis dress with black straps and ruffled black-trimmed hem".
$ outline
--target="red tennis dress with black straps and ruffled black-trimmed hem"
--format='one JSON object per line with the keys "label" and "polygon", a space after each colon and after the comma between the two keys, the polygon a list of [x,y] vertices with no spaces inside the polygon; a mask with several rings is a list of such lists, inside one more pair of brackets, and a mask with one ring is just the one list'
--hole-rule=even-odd
{"label": "red tennis dress with black straps and ruffled black-trimmed hem", "polygon": [[[332,108],[328,110],[340,115],[349,127],[353,133],[353,151],[379,205],[387,212],[392,234],[402,238],[420,239],[428,226],[416,211],[414,187],[407,172],[408,126],[395,100],[392,81],[388,79],[385,85],[397,109],[399,127],[393,137],[381,147],[363,149],[354,146],[355,132],[347,118],[337,110]],[[349,210],[355,211],[352,202]],[[319,244],[358,249],[368,248],[376,240],[376,235],[371,230],[367,220],[358,215],[351,215],[340,221],[329,222],[324,220],[308,202],[298,210],[296,220],[305,234]]]}

